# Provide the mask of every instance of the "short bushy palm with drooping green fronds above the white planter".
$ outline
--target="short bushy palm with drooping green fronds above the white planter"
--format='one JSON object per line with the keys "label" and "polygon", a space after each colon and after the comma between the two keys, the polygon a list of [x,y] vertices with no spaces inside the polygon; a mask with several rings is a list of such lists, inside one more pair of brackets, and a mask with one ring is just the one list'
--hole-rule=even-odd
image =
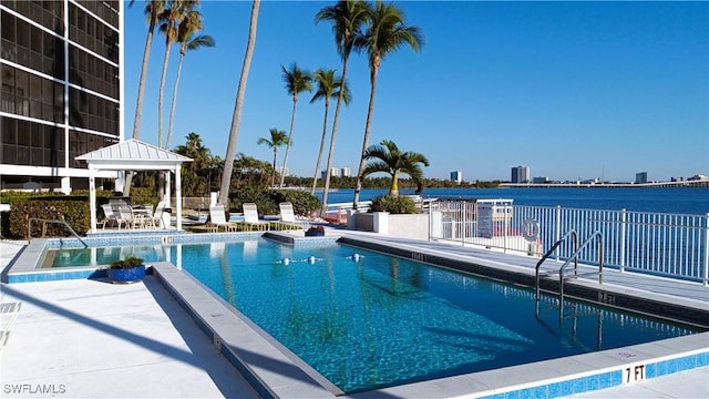
{"label": "short bushy palm with drooping green fronds above the white planter", "polygon": [[407,174],[417,184],[420,192],[423,187],[423,171],[421,165],[429,166],[429,160],[417,152],[402,153],[394,142],[384,140],[381,145],[371,145],[364,152],[363,160],[369,161],[362,171],[362,178],[377,172],[389,173],[391,186],[389,195],[399,196],[399,176]]}

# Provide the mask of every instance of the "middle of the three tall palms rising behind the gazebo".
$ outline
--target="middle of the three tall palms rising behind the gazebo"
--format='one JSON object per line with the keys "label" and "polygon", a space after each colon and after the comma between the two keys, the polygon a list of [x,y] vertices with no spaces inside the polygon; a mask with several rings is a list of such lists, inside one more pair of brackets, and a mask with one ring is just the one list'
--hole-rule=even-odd
{"label": "middle of the three tall palms rising behind the gazebo", "polygon": [[160,79],[160,90],[157,96],[157,146],[163,149],[163,98],[165,95],[165,79],[167,78],[167,63],[169,61],[169,50],[177,41],[177,31],[182,21],[197,8],[198,0],[171,0],[167,8],[161,16],[163,23],[160,31],[165,35],[165,57],[163,59],[163,74]]}

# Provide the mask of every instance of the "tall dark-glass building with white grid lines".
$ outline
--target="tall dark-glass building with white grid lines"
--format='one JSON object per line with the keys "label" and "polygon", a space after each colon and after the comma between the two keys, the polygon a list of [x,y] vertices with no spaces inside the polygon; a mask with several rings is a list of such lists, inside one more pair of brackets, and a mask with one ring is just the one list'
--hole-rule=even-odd
{"label": "tall dark-glass building with white grid lines", "polygon": [[86,187],[74,157],[123,139],[122,11],[119,0],[0,2],[1,188]]}

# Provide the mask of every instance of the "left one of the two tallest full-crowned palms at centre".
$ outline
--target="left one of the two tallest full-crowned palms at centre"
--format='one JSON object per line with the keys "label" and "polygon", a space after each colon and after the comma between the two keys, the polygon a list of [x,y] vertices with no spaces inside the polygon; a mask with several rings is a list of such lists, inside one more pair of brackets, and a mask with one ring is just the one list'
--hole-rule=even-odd
{"label": "left one of the two tallest full-crowned palms at centre", "polygon": [[[360,0],[340,0],[335,6],[326,7],[315,16],[315,23],[321,21],[332,22],[332,33],[337,52],[342,58],[342,76],[340,81],[347,86],[347,61],[354,47],[354,38],[361,33],[362,27],[371,12],[371,6]],[[332,121],[332,134],[330,135],[330,150],[325,174],[325,185],[322,187],[322,215],[328,208],[328,191],[330,190],[330,168],[332,167],[332,156],[335,154],[335,140],[337,139],[337,124],[340,120],[340,108],[345,102],[345,91],[340,91],[335,108],[335,119]]]}

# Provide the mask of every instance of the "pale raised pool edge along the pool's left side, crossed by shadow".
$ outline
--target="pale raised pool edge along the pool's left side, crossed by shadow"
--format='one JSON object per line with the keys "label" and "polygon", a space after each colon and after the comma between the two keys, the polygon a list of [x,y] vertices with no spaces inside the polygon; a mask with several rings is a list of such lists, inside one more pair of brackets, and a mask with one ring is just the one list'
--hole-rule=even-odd
{"label": "pale raised pool edge along the pool's left side, crossed by shadow", "polygon": [[335,398],[218,298],[169,263],[155,263],[157,280],[263,398]]}

